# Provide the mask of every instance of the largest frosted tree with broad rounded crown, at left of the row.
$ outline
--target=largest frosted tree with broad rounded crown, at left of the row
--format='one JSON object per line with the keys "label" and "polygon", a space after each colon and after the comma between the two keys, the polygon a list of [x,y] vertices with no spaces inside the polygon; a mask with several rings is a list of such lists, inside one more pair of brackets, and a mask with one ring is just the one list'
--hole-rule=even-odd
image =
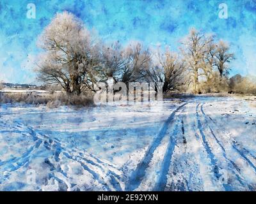
{"label": "largest frosted tree with broad rounded crown, at left of the row", "polygon": [[[61,84],[67,93],[81,94],[83,84],[94,83],[99,66],[99,43],[71,13],[58,13],[45,27],[39,47],[45,52],[38,62],[38,78],[47,84]],[[88,83],[91,80],[91,83]]]}

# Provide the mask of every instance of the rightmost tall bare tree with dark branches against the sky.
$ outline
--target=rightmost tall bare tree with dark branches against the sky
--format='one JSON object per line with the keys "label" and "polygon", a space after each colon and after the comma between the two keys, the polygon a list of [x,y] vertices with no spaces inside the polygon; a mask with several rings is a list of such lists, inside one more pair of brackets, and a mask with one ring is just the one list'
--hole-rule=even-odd
{"label": "rightmost tall bare tree with dark branches against the sky", "polygon": [[220,77],[228,75],[228,63],[234,59],[234,54],[228,53],[229,45],[225,41],[220,40],[216,48],[216,66],[220,72]]}

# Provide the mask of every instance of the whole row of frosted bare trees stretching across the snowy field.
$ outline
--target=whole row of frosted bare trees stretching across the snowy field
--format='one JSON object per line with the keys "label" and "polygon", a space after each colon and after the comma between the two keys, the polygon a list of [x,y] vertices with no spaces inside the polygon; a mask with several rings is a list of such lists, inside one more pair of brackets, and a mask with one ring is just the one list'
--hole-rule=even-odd
{"label": "whole row of frosted bare trees stretching across the snowy field", "polygon": [[170,47],[147,48],[137,41],[126,46],[119,41],[105,43],[95,31],[64,11],[45,27],[38,40],[44,50],[36,63],[38,79],[60,84],[68,94],[95,92],[97,82],[161,82],[163,92],[213,92],[228,79],[229,63],[234,59],[225,41],[191,29],[180,41],[180,51]]}

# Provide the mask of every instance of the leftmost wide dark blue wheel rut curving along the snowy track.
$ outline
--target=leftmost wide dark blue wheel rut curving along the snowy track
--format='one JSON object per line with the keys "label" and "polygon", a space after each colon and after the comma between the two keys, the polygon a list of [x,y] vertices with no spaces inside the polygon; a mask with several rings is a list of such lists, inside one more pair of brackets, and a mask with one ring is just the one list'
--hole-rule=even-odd
{"label": "leftmost wide dark blue wheel rut curving along the snowy track", "polygon": [[[188,103],[183,103],[178,108],[176,108],[176,110],[174,110],[171,113],[171,115],[168,117],[168,119],[164,122],[163,127],[161,128],[159,134],[153,139],[153,142],[151,143],[150,147],[148,147],[147,152],[145,152],[145,156],[138,164],[136,170],[134,170],[132,172],[129,182],[125,187],[125,191],[133,191],[134,189],[136,189],[137,187],[140,186],[141,180],[145,176],[145,172],[148,168],[148,164],[150,163],[155,150],[160,145],[161,141],[163,140],[164,136],[166,135],[168,126],[173,121],[175,114],[186,104],[188,104]],[[173,151],[172,145],[170,145],[170,150],[168,149],[168,151],[170,151],[168,153],[170,155],[170,153],[172,153],[172,151]]]}

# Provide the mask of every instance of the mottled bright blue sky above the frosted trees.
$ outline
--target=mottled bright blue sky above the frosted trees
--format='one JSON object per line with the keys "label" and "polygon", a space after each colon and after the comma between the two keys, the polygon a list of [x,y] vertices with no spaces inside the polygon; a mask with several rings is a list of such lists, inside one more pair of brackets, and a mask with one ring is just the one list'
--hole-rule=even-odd
{"label": "mottled bright blue sky above the frosted trees", "polygon": [[[26,17],[27,4],[36,6],[36,18]],[[220,3],[228,6],[228,18],[218,17]],[[0,80],[37,84],[33,71],[38,35],[56,12],[74,13],[106,41],[140,40],[179,47],[190,27],[215,33],[232,46],[236,60],[231,75],[256,75],[255,0],[1,0]]]}

